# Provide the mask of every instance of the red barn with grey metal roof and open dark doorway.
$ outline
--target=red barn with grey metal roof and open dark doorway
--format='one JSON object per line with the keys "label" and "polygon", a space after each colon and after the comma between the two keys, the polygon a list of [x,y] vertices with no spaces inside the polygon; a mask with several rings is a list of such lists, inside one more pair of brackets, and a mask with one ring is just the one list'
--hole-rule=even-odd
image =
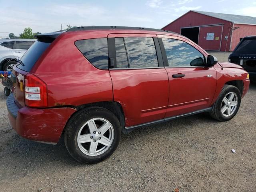
{"label": "red barn with grey metal roof and open dark doorway", "polygon": [[182,34],[205,50],[233,51],[241,38],[256,35],[256,17],[190,10],[162,29]]}

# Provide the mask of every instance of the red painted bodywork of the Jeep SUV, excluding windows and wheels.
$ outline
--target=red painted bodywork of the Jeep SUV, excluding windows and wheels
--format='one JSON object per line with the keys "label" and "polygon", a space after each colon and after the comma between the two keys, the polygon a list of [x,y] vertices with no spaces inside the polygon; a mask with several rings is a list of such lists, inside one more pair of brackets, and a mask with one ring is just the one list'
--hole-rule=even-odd
{"label": "red painted bodywork of the Jeep SUV, excluding windows and wheels", "polygon": [[[119,102],[128,127],[208,108],[214,104],[224,84],[232,80],[244,82],[243,96],[248,90],[247,72],[235,64],[221,64],[223,69],[216,64],[210,68],[100,70],[74,45],[77,40],[128,36],[176,38],[208,56],[194,42],[178,34],[145,30],[64,32],[30,71],[47,85],[47,108],[25,106],[22,85],[28,72],[13,70],[17,76],[14,102],[20,109],[16,118],[9,112],[9,118],[18,134],[31,140],[57,143],[72,114],[84,104]],[[186,76],[172,78],[176,73]]]}

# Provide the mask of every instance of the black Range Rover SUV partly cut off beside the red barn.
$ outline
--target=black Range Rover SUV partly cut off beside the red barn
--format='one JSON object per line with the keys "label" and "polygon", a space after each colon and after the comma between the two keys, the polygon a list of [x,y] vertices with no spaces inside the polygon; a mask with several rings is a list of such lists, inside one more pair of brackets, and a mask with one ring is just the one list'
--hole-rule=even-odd
{"label": "black Range Rover SUV partly cut off beside the red barn", "polygon": [[244,37],[236,46],[228,61],[241,65],[250,74],[250,78],[256,78],[256,36]]}

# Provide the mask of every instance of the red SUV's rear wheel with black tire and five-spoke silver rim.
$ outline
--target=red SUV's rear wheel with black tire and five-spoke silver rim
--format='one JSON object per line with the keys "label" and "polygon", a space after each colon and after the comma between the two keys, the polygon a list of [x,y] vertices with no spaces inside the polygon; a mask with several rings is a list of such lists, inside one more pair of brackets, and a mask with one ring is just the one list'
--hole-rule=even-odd
{"label": "red SUV's rear wheel with black tire and five-spoke silver rim", "polygon": [[117,148],[121,126],[105,108],[92,107],[77,112],[65,129],[65,145],[70,155],[82,163],[97,163]]}

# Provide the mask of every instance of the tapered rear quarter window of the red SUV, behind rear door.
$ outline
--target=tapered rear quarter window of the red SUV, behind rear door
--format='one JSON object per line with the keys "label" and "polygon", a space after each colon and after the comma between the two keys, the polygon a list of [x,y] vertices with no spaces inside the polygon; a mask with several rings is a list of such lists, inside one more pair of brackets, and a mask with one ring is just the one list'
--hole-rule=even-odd
{"label": "tapered rear quarter window of the red SUV, behind rear door", "polygon": [[107,38],[78,40],[75,45],[94,67],[108,69]]}

